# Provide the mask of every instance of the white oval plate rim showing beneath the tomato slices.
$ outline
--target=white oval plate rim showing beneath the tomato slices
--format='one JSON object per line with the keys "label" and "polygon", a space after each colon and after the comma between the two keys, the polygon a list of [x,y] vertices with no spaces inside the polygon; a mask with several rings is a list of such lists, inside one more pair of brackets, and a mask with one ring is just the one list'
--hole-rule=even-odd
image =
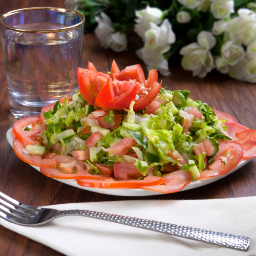
{"label": "white oval plate rim showing beneath the tomato slices", "polygon": [[[6,138],[8,140],[8,142],[10,143],[10,145],[13,147],[13,139],[15,138],[12,128],[10,128],[6,134]],[[188,189],[192,189],[192,188],[196,188],[196,187],[201,187],[204,185],[207,185],[209,183],[215,182],[217,180],[220,180],[224,177],[226,177],[227,175],[233,173],[234,171],[236,171],[237,169],[241,168],[242,166],[244,166],[245,164],[247,164],[250,159],[246,159],[246,160],[241,160],[240,163],[233,168],[232,170],[230,170],[230,172],[228,174],[225,175],[220,175],[220,176],[216,176],[216,177],[211,177],[211,178],[206,178],[204,180],[195,180],[195,181],[191,181],[188,185],[186,185],[182,190],[180,191],[184,191],[184,190],[188,190]],[[38,170],[38,172],[40,172],[40,167],[31,165],[32,167],[34,167],[35,169]],[[107,189],[107,188],[94,188],[94,187],[82,187],[80,185],[78,185],[76,183],[75,180],[60,180],[60,179],[55,179],[59,182],[71,185],[73,187],[78,187],[81,189],[85,189],[85,190],[89,190],[89,191],[93,191],[93,192],[97,192],[97,193],[101,193],[101,194],[106,194],[106,195],[113,195],[113,196],[126,196],[126,197],[141,197],[141,196],[154,196],[154,195],[163,195],[163,193],[158,193],[155,191],[151,191],[151,190],[145,190],[145,189],[138,189],[138,188],[112,188],[112,189]]]}

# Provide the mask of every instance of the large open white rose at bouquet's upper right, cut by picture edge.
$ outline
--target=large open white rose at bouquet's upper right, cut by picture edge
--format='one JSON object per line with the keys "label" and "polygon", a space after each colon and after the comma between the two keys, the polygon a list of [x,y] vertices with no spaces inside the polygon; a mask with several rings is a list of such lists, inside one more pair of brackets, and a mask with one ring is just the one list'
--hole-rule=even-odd
{"label": "large open white rose at bouquet's upper right, cut by picture edge", "polygon": [[226,31],[231,40],[248,46],[256,40],[256,15],[249,9],[240,9],[238,14],[227,23]]}

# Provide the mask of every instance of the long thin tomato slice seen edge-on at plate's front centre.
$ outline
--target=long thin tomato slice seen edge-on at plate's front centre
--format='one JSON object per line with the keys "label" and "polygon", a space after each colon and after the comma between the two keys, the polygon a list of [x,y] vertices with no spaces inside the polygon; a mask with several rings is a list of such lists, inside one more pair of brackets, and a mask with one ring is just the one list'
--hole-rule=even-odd
{"label": "long thin tomato slice seen edge-on at plate's front centre", "polygon": [[77,184],[83,187],[96,188],[140,188],[142,186],[155,186],[163,183],[163,178],[149,175],[143,180],[77,180]]}

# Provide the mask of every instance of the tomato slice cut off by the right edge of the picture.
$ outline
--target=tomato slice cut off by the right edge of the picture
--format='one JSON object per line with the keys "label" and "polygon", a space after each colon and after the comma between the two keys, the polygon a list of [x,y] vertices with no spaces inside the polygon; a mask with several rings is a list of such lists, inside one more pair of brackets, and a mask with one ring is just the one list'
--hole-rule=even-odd
{"label": "tomato slice cut off by the right edge of the picture", "polygon": [[244,147],[243,159],[256,157],[256,130],[245,130],[236,135],[236,141]]}

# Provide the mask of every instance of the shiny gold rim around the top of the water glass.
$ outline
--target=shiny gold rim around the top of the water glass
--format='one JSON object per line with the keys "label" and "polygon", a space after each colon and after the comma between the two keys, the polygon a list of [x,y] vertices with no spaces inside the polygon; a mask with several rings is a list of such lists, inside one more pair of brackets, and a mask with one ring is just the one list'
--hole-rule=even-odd
{"label": "shiny gold rim around the top of the water glass", "polygon": [[[48,10],[48,11],[59,11],[59,12],[68,12],[68,13],[72,13],[74,15],[77,15],[81,18],[81,22],[79,22],[76,25],[73,26],[69,26],[67,28],[61,28],[61,29],[20,29],[20,28],[15,28],[15,27],[11,27],[8,26],[7,24],[5,24],[3,22],[3,19],[9,15],[15,14],[15,13],[19,13],[19,12],[26,12],[26,11],[35,11],[35,10]],[[18,9],[18,10],[14,10],[14,11],[10,11],[7,12],[5,14],[3,14],[0,18],[0,25],[2,25],[4,28],[9,29],[9,30],[14,30],[14,31],[18,31],[18,32],[25,32],[25,33],[56,33],[56,32],[62,32],[62,31],[68,31],[68,30],[72,30],[75,28],[80,27],[84,21],[86,20],[86,18],[77,11],[74,10],[70,10],[70,9],[65,9],[65,8],[55,8],[55,7],[32,7],[32,8],[24,8],[24,9]]]}

